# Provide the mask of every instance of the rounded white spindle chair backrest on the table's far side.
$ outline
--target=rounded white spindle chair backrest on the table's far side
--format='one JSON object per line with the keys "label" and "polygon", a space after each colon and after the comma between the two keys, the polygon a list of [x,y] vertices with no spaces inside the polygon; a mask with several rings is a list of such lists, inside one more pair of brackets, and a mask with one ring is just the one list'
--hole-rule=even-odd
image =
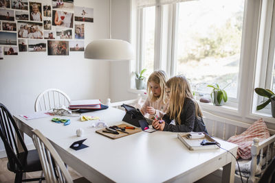
{"label": "rounded white spindle chair backrest on the table's far side", "polygon": [[43,93],[39,94],[36,98],[34,110],[37,112],[69,106],[70,101],[71,99],[69,99],[68,95],[63,91],[50,88],[43,91]]}

